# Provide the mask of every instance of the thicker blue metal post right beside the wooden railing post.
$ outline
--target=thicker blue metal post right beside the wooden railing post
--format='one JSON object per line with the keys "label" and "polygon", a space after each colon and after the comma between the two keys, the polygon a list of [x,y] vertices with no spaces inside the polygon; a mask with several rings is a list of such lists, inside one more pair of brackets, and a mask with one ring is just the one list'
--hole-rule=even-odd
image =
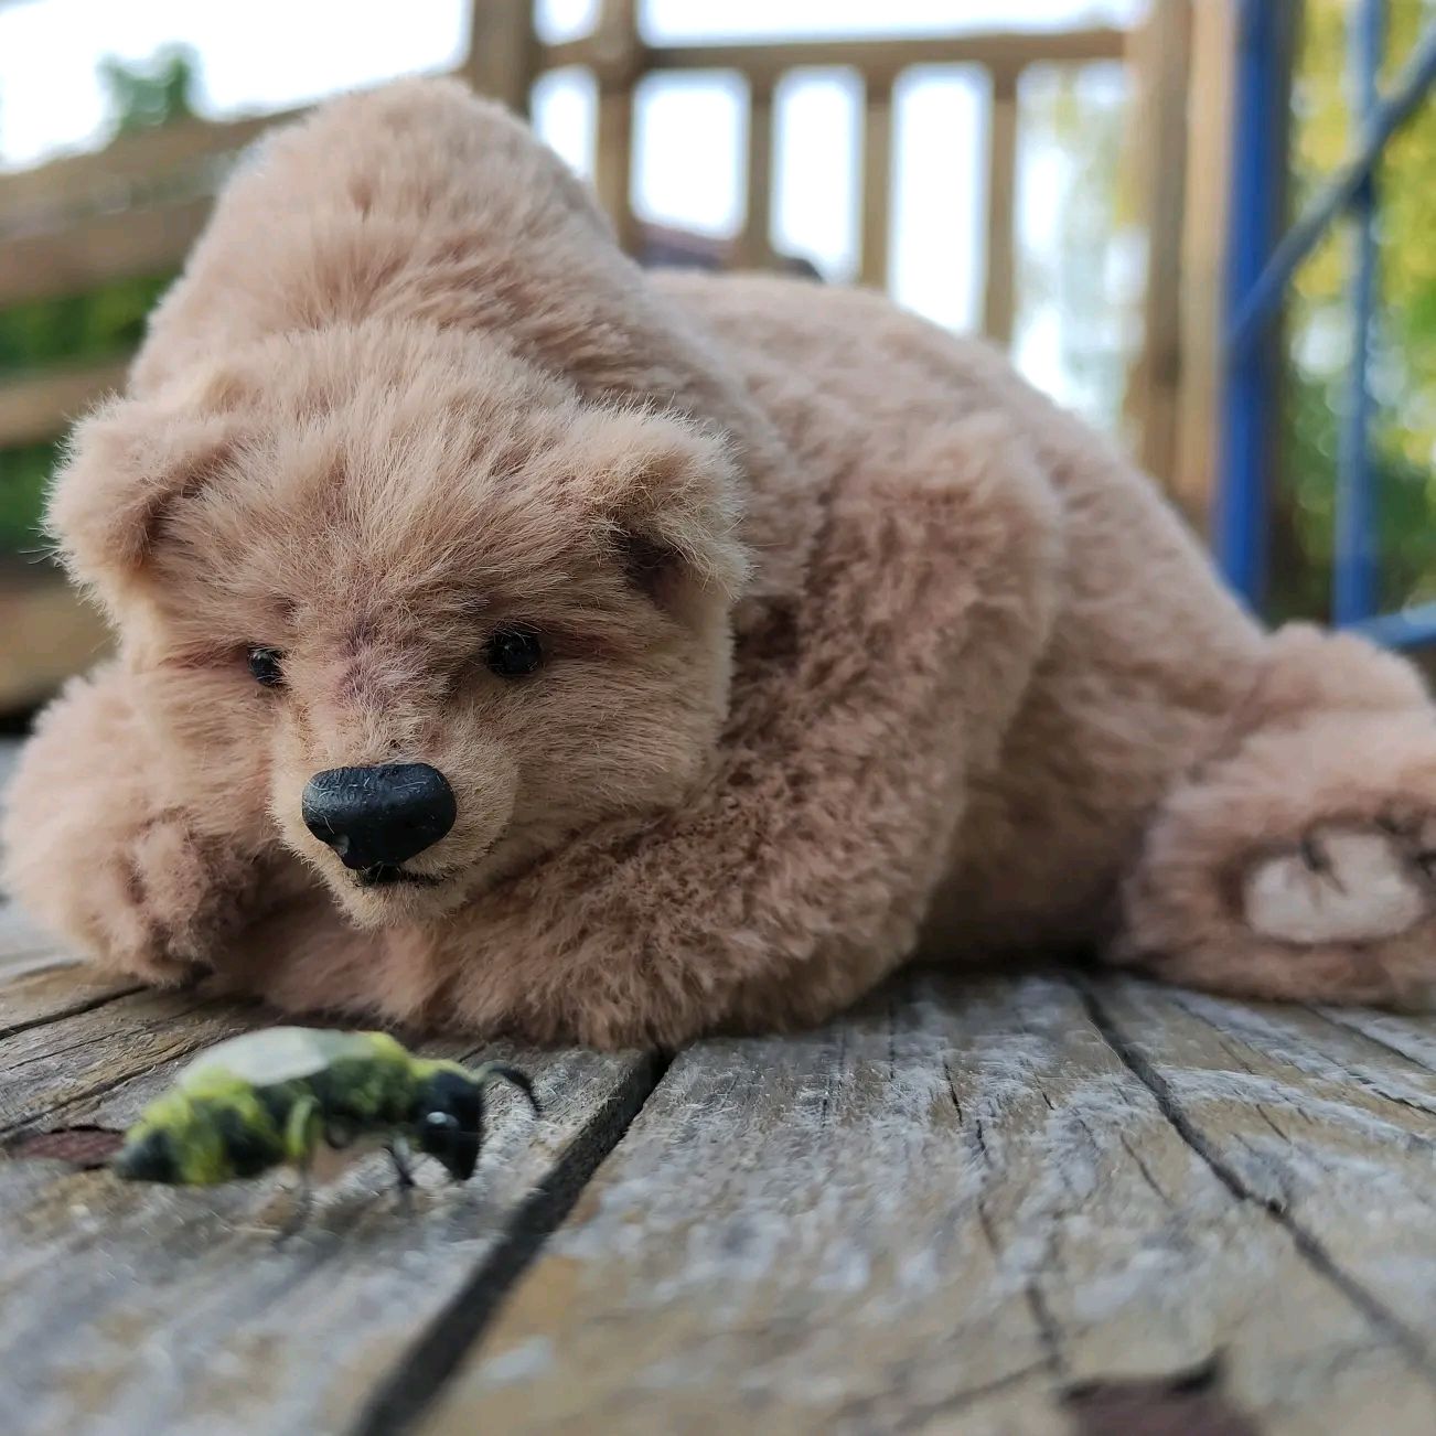
{"label": "thicker blue metal post right beside the wooden railing post", "polygon": [[1222,472],[1212,534],[1232,587],[1259,609],[1267,590],[1272,422],[1278,368],[1271,313],[1234,333],[1236,316],[1261,277],[1281,233],[1287,157],[1284,7],[1242,0],[1238,11],[1232,123],[1232,194],[1228,215],[1226,353],[1222,393]]}

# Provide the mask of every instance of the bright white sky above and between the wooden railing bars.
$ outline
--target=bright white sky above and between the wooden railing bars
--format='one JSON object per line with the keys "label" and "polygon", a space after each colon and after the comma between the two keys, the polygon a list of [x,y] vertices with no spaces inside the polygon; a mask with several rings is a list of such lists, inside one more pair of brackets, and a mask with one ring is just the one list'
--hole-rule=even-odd
{"label": "bright white sky above and between the wooden railing bars", "polygon": [[[1147,0],[648,0],[653,42],[794,34],[899,34],[1130,23]],[[595,0],[541,0],[547,39],[582,34]],[[0,167],[13,168],[105,138],[96,65],[149,57],[182,42],[200,56],[200,106],[214,118],[281,109],[416,70],[442,70],[465,50],[465,0],[20,0],[0,3]],[[873,16],[880,16],[880,24]],[[774,243],[833,279],[856,263],[856,76],[808,70],[777,99]],[[592,164],[590,83],[546,78],[540,134],[583,174]],[[969,327],[979,312],[985,145],[981,75],[913,70],[896,96],[898,162],[892,243],[896,297],[939,323]],[[711,73],[646,80],[639,95],[635,207],[708,234],[741,223],[744,90]],[[1024,152],[1018,223],[1040,247],[1051,214],[1044,165]],[[1058,395],[1070,388],[1058,345],[1041,323],[1020,360]]]}

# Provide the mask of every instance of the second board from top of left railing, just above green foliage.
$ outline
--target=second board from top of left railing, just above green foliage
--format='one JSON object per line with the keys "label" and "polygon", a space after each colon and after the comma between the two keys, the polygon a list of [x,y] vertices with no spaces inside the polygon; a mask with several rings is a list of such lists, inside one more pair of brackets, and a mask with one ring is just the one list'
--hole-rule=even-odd
{"label": "second board from top of left railing, just above green foliage", "polygon": [[0,240],[0,304],[83,293],[131,274],[175,269],[210,217],[210,198],[103,214],[50,233]]}

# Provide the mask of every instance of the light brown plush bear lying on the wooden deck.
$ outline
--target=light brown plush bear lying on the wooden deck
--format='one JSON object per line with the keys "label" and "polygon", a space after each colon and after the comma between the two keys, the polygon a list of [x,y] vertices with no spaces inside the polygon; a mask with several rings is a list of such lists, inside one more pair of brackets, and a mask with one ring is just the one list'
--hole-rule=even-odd
{"label": "light brown plush bear lying on the wooden deck", "polygon": [[155,982],[610,1045],[913,954],[1436,976],[1410,668],[1262,633],[982,345],[643,276],[451,83],[233,181],[52,523],[121,652],[40,724],[7,880]]}

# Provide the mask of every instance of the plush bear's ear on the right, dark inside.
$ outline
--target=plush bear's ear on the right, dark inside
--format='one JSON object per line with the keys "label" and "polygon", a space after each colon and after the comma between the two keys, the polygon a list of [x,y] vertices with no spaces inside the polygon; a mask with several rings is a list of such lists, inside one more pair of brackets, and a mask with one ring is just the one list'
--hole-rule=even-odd
{"label": "plush bear's ear on the right, dark inside", "polygon": [[639,411],[602,412],[584,429],[574,435],[576,472],[628,582],[671,610],[695,589],[735,599],[748,556],[738,538],[740,475],[722,435]]}

